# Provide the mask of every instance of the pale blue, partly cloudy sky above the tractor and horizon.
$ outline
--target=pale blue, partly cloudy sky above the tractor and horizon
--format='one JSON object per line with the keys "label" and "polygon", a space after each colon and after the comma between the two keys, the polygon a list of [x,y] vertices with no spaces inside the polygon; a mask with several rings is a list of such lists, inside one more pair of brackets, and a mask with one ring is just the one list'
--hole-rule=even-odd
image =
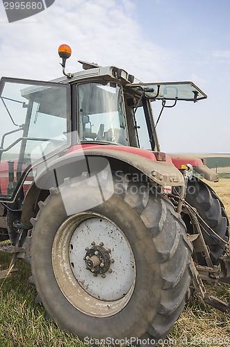
{"label": "pale blue, partly cloudy sky above the tractor and horizon", "polygon": [[[229,0],[56,0],[8,23],[0,2],[0,76],[62,75],[58,46],[77,60],[117,66],[143,82],[192,81],[208,99],[180,101],[157,126],[161,151],[230,153]],[[161,110],[154,103],[155,119]]]}

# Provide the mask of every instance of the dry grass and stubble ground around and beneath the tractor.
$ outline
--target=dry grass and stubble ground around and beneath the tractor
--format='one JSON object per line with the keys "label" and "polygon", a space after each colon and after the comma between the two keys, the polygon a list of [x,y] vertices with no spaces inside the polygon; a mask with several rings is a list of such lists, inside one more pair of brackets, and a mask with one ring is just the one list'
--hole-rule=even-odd
{"label": "dry grass and stubble ground around and beneath the tractor", "polygon": [[[230,180],[222,179],[211,186],[222,198],[230,216]],[[8,255],[0,254],[1,269],[6,268],[9,261]],[[18,269],[12,277],[0,280],[0,346],[87,346],[46,319],[43,307],[35,304],[35,288],[28,284],[31,276],[29,266],[20,260]],[[230,302],[230,285],[208,285],[208,291]],[[160,346],[191,345],[229,347],[230,314],[190,299],[172,332]]]}

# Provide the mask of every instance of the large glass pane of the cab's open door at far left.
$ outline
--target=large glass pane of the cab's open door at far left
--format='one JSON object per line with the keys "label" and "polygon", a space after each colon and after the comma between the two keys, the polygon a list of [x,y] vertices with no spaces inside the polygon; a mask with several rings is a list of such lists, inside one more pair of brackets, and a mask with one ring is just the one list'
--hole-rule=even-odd
{"label": "large glass pane of the cab's open door at far left", "polygon": [[13,196],[28,165],[50,158],[50,153],[67,145],[68,88],[56,83],[1,79],[0,198]]}

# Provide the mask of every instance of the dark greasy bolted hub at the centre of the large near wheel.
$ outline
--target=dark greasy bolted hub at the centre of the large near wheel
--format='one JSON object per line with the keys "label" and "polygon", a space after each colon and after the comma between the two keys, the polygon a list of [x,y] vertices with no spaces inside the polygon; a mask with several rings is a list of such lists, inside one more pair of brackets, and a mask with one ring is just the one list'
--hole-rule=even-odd
{"label": "dark greasy bolted hub at the centre of the large near wheel", "polygon": [[110,250],[102,246],[92,246],[92,248],[86,248],[86,254],[83,258],[85,260],[86,269],[94,273],[95,275],[106,273],[110,268]]}

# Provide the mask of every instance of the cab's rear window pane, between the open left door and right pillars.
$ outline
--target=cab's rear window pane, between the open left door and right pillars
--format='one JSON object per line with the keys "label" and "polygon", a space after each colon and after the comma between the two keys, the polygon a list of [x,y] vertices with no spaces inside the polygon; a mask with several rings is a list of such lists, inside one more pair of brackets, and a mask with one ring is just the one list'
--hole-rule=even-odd
{"label": "cab's rear window pane, between the open left door and right pillars", "polygon": [[84,83],[77,86],[79,138],[129,145],[123,92],[117,83]]}

